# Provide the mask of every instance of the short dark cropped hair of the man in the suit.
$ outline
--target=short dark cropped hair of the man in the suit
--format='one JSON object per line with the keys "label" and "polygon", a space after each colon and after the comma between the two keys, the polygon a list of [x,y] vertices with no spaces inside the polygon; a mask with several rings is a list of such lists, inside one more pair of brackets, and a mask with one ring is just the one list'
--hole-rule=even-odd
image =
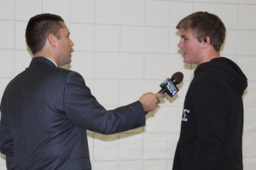
{"label": "short dark cropped hair of the man in the suit", "polygon": [[55,14],[38,14],[33,16],[26,26],[26,43],[35,54],[44,48],[46,38],[49,34],[61,39],[60,28],[64,20]]}

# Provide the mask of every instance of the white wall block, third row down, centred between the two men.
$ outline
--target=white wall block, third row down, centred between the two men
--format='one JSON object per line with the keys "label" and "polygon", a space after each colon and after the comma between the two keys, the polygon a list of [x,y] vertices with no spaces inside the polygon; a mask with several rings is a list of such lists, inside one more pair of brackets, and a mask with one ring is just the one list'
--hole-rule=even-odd
{"label": "white wall block, third row down, centred between the two men", "polygon": [[143,54],[121,54],[120,78],[143,79]]}

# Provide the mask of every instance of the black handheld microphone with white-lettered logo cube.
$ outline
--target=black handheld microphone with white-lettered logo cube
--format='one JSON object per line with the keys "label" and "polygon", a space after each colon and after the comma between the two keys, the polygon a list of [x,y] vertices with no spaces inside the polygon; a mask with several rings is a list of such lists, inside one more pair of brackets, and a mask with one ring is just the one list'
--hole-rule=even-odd
{"label": "black handheld microphone with white-lettered logo cube", "polygon": [[176,87],[177,84],[183,81],[183,73],[176,72],[172,75],[171,78],[166,78],[164,82],[160,84],[162,88],[158,94],[168,94],[169,96],[174,96],[178,92],[178,88]]}

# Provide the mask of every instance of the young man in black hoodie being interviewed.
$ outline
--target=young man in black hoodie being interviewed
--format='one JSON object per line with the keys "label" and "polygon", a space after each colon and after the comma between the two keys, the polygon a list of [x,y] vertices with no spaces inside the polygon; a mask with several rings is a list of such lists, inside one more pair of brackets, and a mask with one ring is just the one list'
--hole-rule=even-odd
{"label": "young man in black hoodie being interviewed", "polygon": [[224,23],[214,14],[196,12],[176,28],[184,62],[198,66],[184,102],[173,170],[241,170],[241,96],[247,77],[219,55]]}

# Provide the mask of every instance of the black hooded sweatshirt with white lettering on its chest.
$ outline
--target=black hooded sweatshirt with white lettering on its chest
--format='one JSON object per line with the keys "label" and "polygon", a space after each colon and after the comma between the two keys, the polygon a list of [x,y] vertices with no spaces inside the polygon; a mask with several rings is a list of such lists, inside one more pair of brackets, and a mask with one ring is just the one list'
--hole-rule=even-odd
{"label": "black hooded sweatshirt with white lettering on its chest", "polygon": [[185,98],[173,170],[241,170],[247,77],[230,59],[199,65]]}

